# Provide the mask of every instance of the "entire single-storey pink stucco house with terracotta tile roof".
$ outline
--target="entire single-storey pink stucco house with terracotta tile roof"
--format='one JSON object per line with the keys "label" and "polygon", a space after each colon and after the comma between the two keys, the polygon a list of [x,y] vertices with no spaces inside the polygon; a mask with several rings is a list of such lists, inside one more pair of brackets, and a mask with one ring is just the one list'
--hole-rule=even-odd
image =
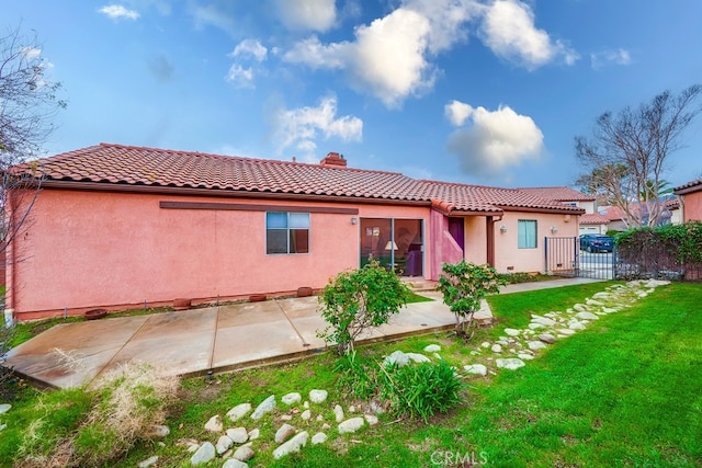
{"label": "entire single-storey pink stucco house with terracotta tile roof", "polygon": [[42,179],[8,250],[20,320],[291,294],[369,259],[429,279],[461,259],[540,272],[544,238],[577,236],[584,212],[351,169],[333,152],[307,164],[101,144],[10,172]]}

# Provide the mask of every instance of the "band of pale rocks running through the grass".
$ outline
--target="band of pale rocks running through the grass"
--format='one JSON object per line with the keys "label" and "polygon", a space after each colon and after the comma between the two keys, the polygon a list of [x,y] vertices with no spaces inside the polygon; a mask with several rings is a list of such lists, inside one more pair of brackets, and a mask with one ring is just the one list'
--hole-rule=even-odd
{"label": "band of pale rocks running through the grass", "polygon": [[[666,284],[669,282],[649,279],[613,285],[566,311],[534,315],[525,328],[507,328],[503,336],[475,346],[471,351],[469,359],[473,362],[462,363],[463,370],[472,376],[487,376],[500,369],[519,369],[553,343],[585,330],[600,317],[618,312]],[[438,344],[427,345],[422,351],[435,359],[441,358],[441,346]],[[395,351],[383,363],[386,366],[405,366],[423,362],[431,362],[431,358],[424,354]],[[273,458],[279,459],[301,452],[308,442],[310,445],[325,444],[332,435],[346,437],[347,434],[354,434],[353,437],[359,437],[358,433],[378,423],[377,414],[383,412],[383,408],[376,402],[371,402],[367,408],[349,406],[344,409],[343,402],[327,402],[328,395],[327,390],[314,389],[305,400],[303,395],[293,391],[280,398],[280,407],[275,395],[271,395],[247,419],[242,418],[253,407],[250,402],[242,402],[231,408],[224,421],[219,414],[207,421],[205,429],[211,434],[207,437],[210,440],[199,442],[181,438],[177,445],[192,454],[192,466],[215,466],[212,460],[217,459],[220,465],[216,466],[244,468],[248,467],[248,461],[256,457],[261,446],[273,444]],[[9,404],[0,404],[0,414],[9,409]],[[236,423],[236,426],[228,426],[229,423]],[[337,424],[336,431],[330,423]],[[159,430],[168,434],[168,427]],[[314,434],[312,437],[310,433]],[[158,457],[145,459],[139,467],[151,465],[158,465]]]}

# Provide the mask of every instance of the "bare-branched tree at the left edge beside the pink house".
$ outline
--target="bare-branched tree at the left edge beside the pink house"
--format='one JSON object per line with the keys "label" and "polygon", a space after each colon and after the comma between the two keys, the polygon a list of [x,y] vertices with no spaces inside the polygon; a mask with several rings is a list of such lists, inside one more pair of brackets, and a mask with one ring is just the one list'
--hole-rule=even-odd
{"label": "bare-branched tree at the left edge beside the pink house", "polygon": [[39,155],[66,107],[60,82],[48,77],[36,35],[18,26],[0,37],[0,252],[23,230],[39,189],[39,178],[18,176],[11,168]]}

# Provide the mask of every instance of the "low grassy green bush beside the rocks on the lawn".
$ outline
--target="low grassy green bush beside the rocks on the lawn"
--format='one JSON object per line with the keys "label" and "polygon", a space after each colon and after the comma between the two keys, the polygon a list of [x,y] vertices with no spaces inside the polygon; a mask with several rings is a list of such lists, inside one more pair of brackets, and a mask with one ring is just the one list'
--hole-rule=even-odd
{"label": "low grassy green bush beside the rocks on the lawn", "polygon": [[465,386],[443,359],[403,367],[393,364],[382,369],[383,397],[400,416],[428,422],[437,412],[446,412],[462,401]]}

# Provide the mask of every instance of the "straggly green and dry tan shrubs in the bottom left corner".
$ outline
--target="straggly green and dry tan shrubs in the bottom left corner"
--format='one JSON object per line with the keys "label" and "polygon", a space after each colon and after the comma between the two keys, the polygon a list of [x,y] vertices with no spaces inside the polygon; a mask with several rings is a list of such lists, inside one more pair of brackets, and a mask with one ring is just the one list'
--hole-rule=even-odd
{"label": "straggly green and dry tan shrubs in the bottom left corner", "polygon": [[94,390],[49,391],[13,411],[13,426],[3,431],[0,448],[4,452],[7,436],[21,467],[109,466],[149,438],[154,425],[166,420],[178,388],[178,377],[147,365],[123,365]]}

